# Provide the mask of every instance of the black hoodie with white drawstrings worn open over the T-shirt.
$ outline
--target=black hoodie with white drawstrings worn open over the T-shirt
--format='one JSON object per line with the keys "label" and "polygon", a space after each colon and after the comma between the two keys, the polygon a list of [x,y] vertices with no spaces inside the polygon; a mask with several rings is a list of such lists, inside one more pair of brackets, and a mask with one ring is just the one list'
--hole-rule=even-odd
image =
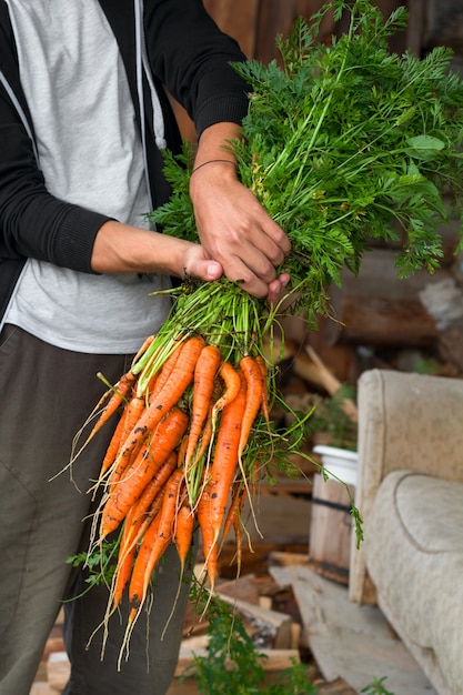
{"label": "black hoodie with white drawstrings worn open over the T-shirt", "polygon": [[[141,129],[135,70],[137,0],[99,0],[114,32]],[[244,59],[236,42],[222,33],[202,0],[144,0],[147,52],[161,101],[168,148],[181,139],[162,85],[187,109],[199,134],[217,122],[240,123],[248,110],[246,85],[230,67]],[[33,142],[33,104],[19,77],[8,6],[0,0],[0,316],[27,258],[91,273],[93,241],[109,219],[59,200],[47,191]],[[153,205],[170,194],[155,145],[148,82],[144,90],[145,148]],[[14,94],[17,103],[11,99]],[[22,119],[18,112],[22,110]],[[23,123],[26,118],[29,134]]]}

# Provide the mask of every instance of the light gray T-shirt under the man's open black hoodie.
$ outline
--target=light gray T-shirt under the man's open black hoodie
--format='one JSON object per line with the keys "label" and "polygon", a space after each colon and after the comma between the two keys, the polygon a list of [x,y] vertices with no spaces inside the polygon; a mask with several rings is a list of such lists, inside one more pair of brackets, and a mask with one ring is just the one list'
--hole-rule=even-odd
{"label": "light gray T-shirt under the man's open black hoodie", "polygon": [[[7,0],[40,165],[56,197],[147,228],[133,104],[97,0]],[[69,350],[135,352],[165,319],[158,275],[91,275],[30,259],[7,321]]]}

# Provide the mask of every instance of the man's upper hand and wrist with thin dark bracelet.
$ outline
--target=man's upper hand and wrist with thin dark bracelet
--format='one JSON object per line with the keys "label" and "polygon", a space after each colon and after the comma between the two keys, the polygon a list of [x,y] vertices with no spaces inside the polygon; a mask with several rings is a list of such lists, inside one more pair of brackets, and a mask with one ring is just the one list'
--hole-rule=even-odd
{"label": "man's upper hand and wrist with thin dark bracelet", "polygon": [[238,133],[236,125],[218,123],[201,135],[190,180],[198,233],[205,253],[230,280],[273,303],[289,281],[288,275],[279,279],[275,269],[283,264],[291,243],[238,180],[233,154],[223,148]]}

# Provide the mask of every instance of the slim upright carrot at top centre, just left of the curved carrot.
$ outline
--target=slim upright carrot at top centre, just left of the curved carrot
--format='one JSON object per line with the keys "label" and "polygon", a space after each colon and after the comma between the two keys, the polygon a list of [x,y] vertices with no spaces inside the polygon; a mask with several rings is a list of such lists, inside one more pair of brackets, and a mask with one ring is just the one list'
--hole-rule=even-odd
{"label": "slim upright carrot at top centre, just left of the curved carrot", "polygon": [[193,401],[190,416],[190,433],[184,465],[188,469],[197,447],[214,389],[214,377],[222,355],[217,345],[204,345],[194,369]]}

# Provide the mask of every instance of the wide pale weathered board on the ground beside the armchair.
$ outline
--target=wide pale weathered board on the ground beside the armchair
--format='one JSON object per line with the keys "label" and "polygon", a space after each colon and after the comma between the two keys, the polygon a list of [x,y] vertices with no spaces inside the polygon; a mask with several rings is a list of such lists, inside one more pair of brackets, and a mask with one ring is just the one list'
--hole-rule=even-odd
{"label": "wide pale weathered board on the ground beside the armchair", "polygon": [[344,678],[360,692],[385,676],[392,693],[437,695],[378,607],[351,603],[344,586],[301,565],[270,567],[273,578],[290,583],[303,633],[323,676]]}

